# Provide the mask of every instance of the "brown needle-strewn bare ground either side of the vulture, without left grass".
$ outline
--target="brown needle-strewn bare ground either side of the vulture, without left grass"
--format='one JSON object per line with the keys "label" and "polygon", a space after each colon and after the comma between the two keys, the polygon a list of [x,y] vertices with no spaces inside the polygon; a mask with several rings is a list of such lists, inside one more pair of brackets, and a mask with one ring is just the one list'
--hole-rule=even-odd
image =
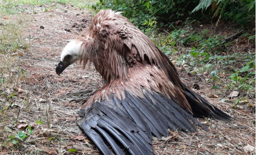
{"label": "brown needle-strewn bare ground either side of the vulture, without left grass", "polygon": [[[55,73],[63,47],[68,40],[75,39],[81,29],[87,31],[92,14],[64,5],[53,12],[44,12],[40,7],[35,7],[34,11],[38,13],[27,11],[28,28],[23,35],[31,46],[18,58],[20,68],[26,71],[26,78],[17,89],[19,93],[15,100],[16,106],[8,110],[13,117],[5,123],[5,128],[8,129],[10,122],[18,115],[18,124],[32,125],[34,133],[19,147],[1,147],[1,154],[72,154],[67,152],[72,148],[79,150],[76,154],[99,154],[93,142],[75,123],[81,103],[69,104],[69,100],[75,96],[65,96],[65,93],[102,86],[100,75],[93,67],[83,70],[78,64],[69,66],[61,76]],[[197,83],[200,86],[200,90],[196,90],[197,93],[235,119],[230,123],[199,119],[209,132],[202,129],[198,129],[194,134],[175,132],[170,137],[154,140],[154,153],[255,154],[255,149],[254,152],[247,151],[248,145],[255,147],[255,109],[247,104],[240,105],[237,109],[230,108],[231,102],[220,102],[220,98],[225,98],[227,93],[219,94],[219,98],[209,98],[214,90],[207,82],[200,77],[191,77],[181,69],[178,70],[184,83],[189,86]],[[40,118],[43,124],[36,124]],[[26,120],[26,123],[23,120]],[[3,137],[7,135],[3,134]]]}

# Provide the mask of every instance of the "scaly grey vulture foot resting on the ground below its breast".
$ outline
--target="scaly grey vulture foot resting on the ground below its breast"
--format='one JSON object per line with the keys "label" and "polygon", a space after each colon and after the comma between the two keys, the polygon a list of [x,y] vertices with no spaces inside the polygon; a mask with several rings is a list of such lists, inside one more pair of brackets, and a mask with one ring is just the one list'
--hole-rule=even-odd
{"label": "scaly grey vulture foot resting on the ground below its breast", "polygon": [[87,90],[83,90],[83,91],[78,91],[78,92],[68,92],[65,95],[76,95],[79,94],[79,98],[74,98],[71,99],[69,103],[75,101],[80,102],[80,101],[87,101],[94,93],[96,93],[98,91],[98,89],[87,89]]}

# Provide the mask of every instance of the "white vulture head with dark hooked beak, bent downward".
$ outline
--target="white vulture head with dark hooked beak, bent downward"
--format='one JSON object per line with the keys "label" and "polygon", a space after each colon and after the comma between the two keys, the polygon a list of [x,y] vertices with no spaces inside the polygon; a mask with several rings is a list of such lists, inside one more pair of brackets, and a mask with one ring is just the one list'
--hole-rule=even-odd
{"label": "white vulture head with dark hooked beak, bent downward", "polygon": [[60,61],[56,67],[56,73],[60,75],[69,65],[82,58],[80,46],[82,41],[72,40],[63,49]]}

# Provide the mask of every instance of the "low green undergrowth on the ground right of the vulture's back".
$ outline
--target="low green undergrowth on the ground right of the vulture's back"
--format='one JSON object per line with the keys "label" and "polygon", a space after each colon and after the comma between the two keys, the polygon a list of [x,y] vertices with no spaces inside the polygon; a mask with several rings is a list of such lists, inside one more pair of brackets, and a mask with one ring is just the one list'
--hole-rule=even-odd
{"label": "low green undergrowth on the ground right of the vulture's back", "polygon": [[[255,42],[255,35],[245,33],[243,36],[247,36],[249,40]],[[250,61],[246,66],[231,74],[228,80],[232,82],[227,82],[227,89],[241,92],[255,91],[255,61],[252,61],[252,54],[227,54],[226,48],[232,42],[226,43],[225,37],[206,29],[196,33],[191,27],[191,23],[188,23],[180,29],[173,30],[166,37],[159,37],[158,41],[153,38],[153,41],[162,52],[167,55],[171,54],[174,63],[183,66],[187,72],[209,75],[207,80],[212,82],[212,88],[218,88],[219,84],[223,82],[218,73],[229,74],[230,69],[236,68],[235,66],[238,64],[241,65],[237,60]],[[182,50],[179,51],[181,47]]]}

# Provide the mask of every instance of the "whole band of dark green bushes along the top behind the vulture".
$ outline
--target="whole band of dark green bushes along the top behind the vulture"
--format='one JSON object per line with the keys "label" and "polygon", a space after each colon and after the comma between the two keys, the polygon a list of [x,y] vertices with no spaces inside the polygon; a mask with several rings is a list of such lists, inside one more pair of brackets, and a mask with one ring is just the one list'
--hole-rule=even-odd
{"label": "whole band of dark green bushes along the top behind the vulture", "polygon": [[[244,25],[255,21],[255,0],[100,0],[92,8],[124,12],[125,17],[143,28],[157,23],[170,27],[187,18],[211,20],[216,17],[217,23],[225,19]],[[205,11],[200,13],[199,10]]]}

